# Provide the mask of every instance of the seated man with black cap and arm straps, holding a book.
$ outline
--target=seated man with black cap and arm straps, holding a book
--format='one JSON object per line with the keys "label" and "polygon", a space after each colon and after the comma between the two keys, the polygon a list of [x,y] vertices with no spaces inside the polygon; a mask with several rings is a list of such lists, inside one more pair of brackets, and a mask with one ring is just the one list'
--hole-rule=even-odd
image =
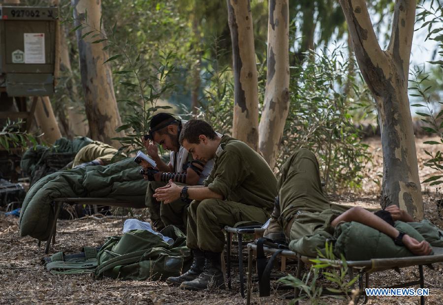
{"label": "seated man with black cap and arm straps, holding a book", "polygon": [[[150,181],[146,192],[146,206],[157,231],[165,226],[175,225],[186,233],[188,206],[190,201],[176,200],[171,204],[158,202],[154,197],[155,189],[164,186],[169,180],[180,185],[198,185],[208,177],[214,164],[213,160],[194,160],[178,141],[182,124],[168,113],[158,113],[151,119],[149,139],[144,145],[148,155],[157,163],[158,171],[147,172]],[[157,144],[171,151],[170,161],[164,163],[158,155]]]}

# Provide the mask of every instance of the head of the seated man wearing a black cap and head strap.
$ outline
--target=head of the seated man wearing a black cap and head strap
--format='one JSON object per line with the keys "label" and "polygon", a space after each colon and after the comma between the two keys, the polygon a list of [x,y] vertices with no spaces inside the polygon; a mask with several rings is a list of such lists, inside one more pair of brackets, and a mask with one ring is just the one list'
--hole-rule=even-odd
{"label": "head of the seated man wearing a black cap and head strap", "polygon": [[180,144],[178,137],[181,129],[181,121],[168,113],[160,112],[152,117],[149,135],[145,140],[151,140],[161,145],[164,150],[178,152]]}

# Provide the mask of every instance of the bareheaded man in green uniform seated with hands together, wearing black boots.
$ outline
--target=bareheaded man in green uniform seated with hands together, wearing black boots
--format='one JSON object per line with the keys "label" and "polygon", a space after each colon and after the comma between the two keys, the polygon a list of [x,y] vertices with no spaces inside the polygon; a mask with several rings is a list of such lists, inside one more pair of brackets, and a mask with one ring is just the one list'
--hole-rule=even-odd
{"label": "bareheaded man in green uniform seated with hands together, wearing black boots", "polygon": [[212,283],[224,287],[221,252],[224,226],[239,221],[265,222],[277,195],[277,180],[266,161],[245,143],[219,136],[200,120],[183,126],[180,143],[197,160],[214,158],[204,185],[183,187],[170,182],[154,196],[164,203],[192,199],[188,211],[187,246],[194,261],[190,270],[167,281],[181,288],[202,290]]}

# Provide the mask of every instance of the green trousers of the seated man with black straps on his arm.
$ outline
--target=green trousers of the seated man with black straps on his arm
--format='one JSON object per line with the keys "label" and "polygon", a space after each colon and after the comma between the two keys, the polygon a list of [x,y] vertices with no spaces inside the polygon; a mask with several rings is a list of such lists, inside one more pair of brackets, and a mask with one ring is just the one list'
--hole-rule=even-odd
{"label": "green trousers of the seated man with black straps on his arm", "polygon": [[[186,185],[182,183],[176,184]],[[165,182],[157,181],[151,181],[148,183],[145,204],[148,207],[152,224],[156,227],[157,231],[160,231],[164,227],[172,224],[186,234],[189,203],[183,202],[181,199],[178,199],[169,204],[164,204],[163,202],[158,202],[156,198],[153,197],[156,188],[165,185]]]}

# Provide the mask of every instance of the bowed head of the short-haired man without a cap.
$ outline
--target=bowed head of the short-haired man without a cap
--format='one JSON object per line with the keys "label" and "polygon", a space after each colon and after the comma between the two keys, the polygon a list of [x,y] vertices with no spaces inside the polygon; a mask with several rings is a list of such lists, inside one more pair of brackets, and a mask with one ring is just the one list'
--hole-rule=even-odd
{"label": "bowed head of the short-haired man without a cap", "polygon": [[190,120],[183,125],[180,144],[196,160],[208,161],[215,157],[221,138],[211,125],[201,120]]}

